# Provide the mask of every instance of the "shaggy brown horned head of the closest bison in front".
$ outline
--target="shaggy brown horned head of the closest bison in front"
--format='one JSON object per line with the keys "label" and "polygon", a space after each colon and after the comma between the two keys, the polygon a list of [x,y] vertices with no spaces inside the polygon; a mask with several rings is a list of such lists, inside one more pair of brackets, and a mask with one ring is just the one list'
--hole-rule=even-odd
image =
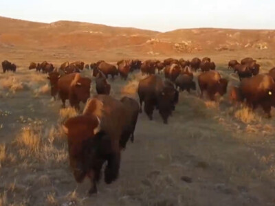
{"label": "shaggy brown horned head of the closest bison in front", "polygon": [[89,165],[85,165],[87,157],[84,146],[88,139],[93,138],[100,131],[100,119],[94,115],[72,117],[65,122],[63,130],[67,135],[69,164],[74,178],[80,183],[89,172]]}

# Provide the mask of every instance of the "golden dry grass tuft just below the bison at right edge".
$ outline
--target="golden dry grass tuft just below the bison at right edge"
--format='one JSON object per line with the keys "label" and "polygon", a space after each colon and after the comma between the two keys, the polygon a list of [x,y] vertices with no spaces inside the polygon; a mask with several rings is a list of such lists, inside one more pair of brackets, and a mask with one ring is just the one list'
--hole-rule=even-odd
{"label": "golden dry grass tuft just below the bison at right edge", "polygon": [[261,118],[256,116],[256,114],[248,106],[241,106],[241,108],[235,111],[234,117],[241,120],[241,122],[245,124],[261,121]]}

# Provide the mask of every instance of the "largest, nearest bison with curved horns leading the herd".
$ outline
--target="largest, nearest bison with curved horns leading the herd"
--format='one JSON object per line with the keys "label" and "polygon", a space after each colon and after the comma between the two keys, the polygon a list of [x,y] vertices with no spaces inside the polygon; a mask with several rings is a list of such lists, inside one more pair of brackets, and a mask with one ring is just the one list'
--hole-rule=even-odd
{"label": "largest, nearest bison with curved horns leading the herd", "polygon": [[133,112],[129,113],[126,104],[129,103],[115,100],[109,95],[95,95],[87,101],[83,115],[72,117],[63,125],[68,140],[69,164],[74,172],[74,178],[81,183],[85,176],[89,177],[89,194],[97,192],[96,184],[100,180],[105,161],[105,183],[110,184],[118,178],[120,140],[126,137],[126,131],[132,132],[133,126],[129,125],[134,124],[134,121],[129,121],[133,117]]}

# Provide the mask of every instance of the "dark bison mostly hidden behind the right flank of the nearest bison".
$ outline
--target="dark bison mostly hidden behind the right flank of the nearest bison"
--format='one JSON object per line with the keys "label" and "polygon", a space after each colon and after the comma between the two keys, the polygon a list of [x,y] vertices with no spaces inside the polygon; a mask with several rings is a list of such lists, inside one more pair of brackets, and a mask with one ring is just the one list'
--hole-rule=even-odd
{"label": "dark bison mostly hidden behind the right flank of the nearest bison", "polygon": [[138,102],[132,98],[123,97],[120,102],[126,109],[126,122],[122,137],[120,138],[120,148],[125,149],[127,141],[131,138],[131,142],[134,141],[135,124],[137,124],[137,117],[140,110]]}

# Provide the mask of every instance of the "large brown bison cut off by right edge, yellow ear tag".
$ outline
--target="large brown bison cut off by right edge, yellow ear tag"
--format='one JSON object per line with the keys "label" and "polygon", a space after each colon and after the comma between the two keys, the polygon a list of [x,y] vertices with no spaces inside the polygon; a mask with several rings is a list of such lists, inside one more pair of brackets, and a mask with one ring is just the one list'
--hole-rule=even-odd
{"label": "large brown bison cut off by right edge, yellow ear tag", "polygon": [[253,109],[259,105],[263,111],[271,117],[271,107],[275,106],[275,82],[266,74],[259,74],[252,78],[245,78],[239,87],[240,100],[246,100],[248,106]]}

